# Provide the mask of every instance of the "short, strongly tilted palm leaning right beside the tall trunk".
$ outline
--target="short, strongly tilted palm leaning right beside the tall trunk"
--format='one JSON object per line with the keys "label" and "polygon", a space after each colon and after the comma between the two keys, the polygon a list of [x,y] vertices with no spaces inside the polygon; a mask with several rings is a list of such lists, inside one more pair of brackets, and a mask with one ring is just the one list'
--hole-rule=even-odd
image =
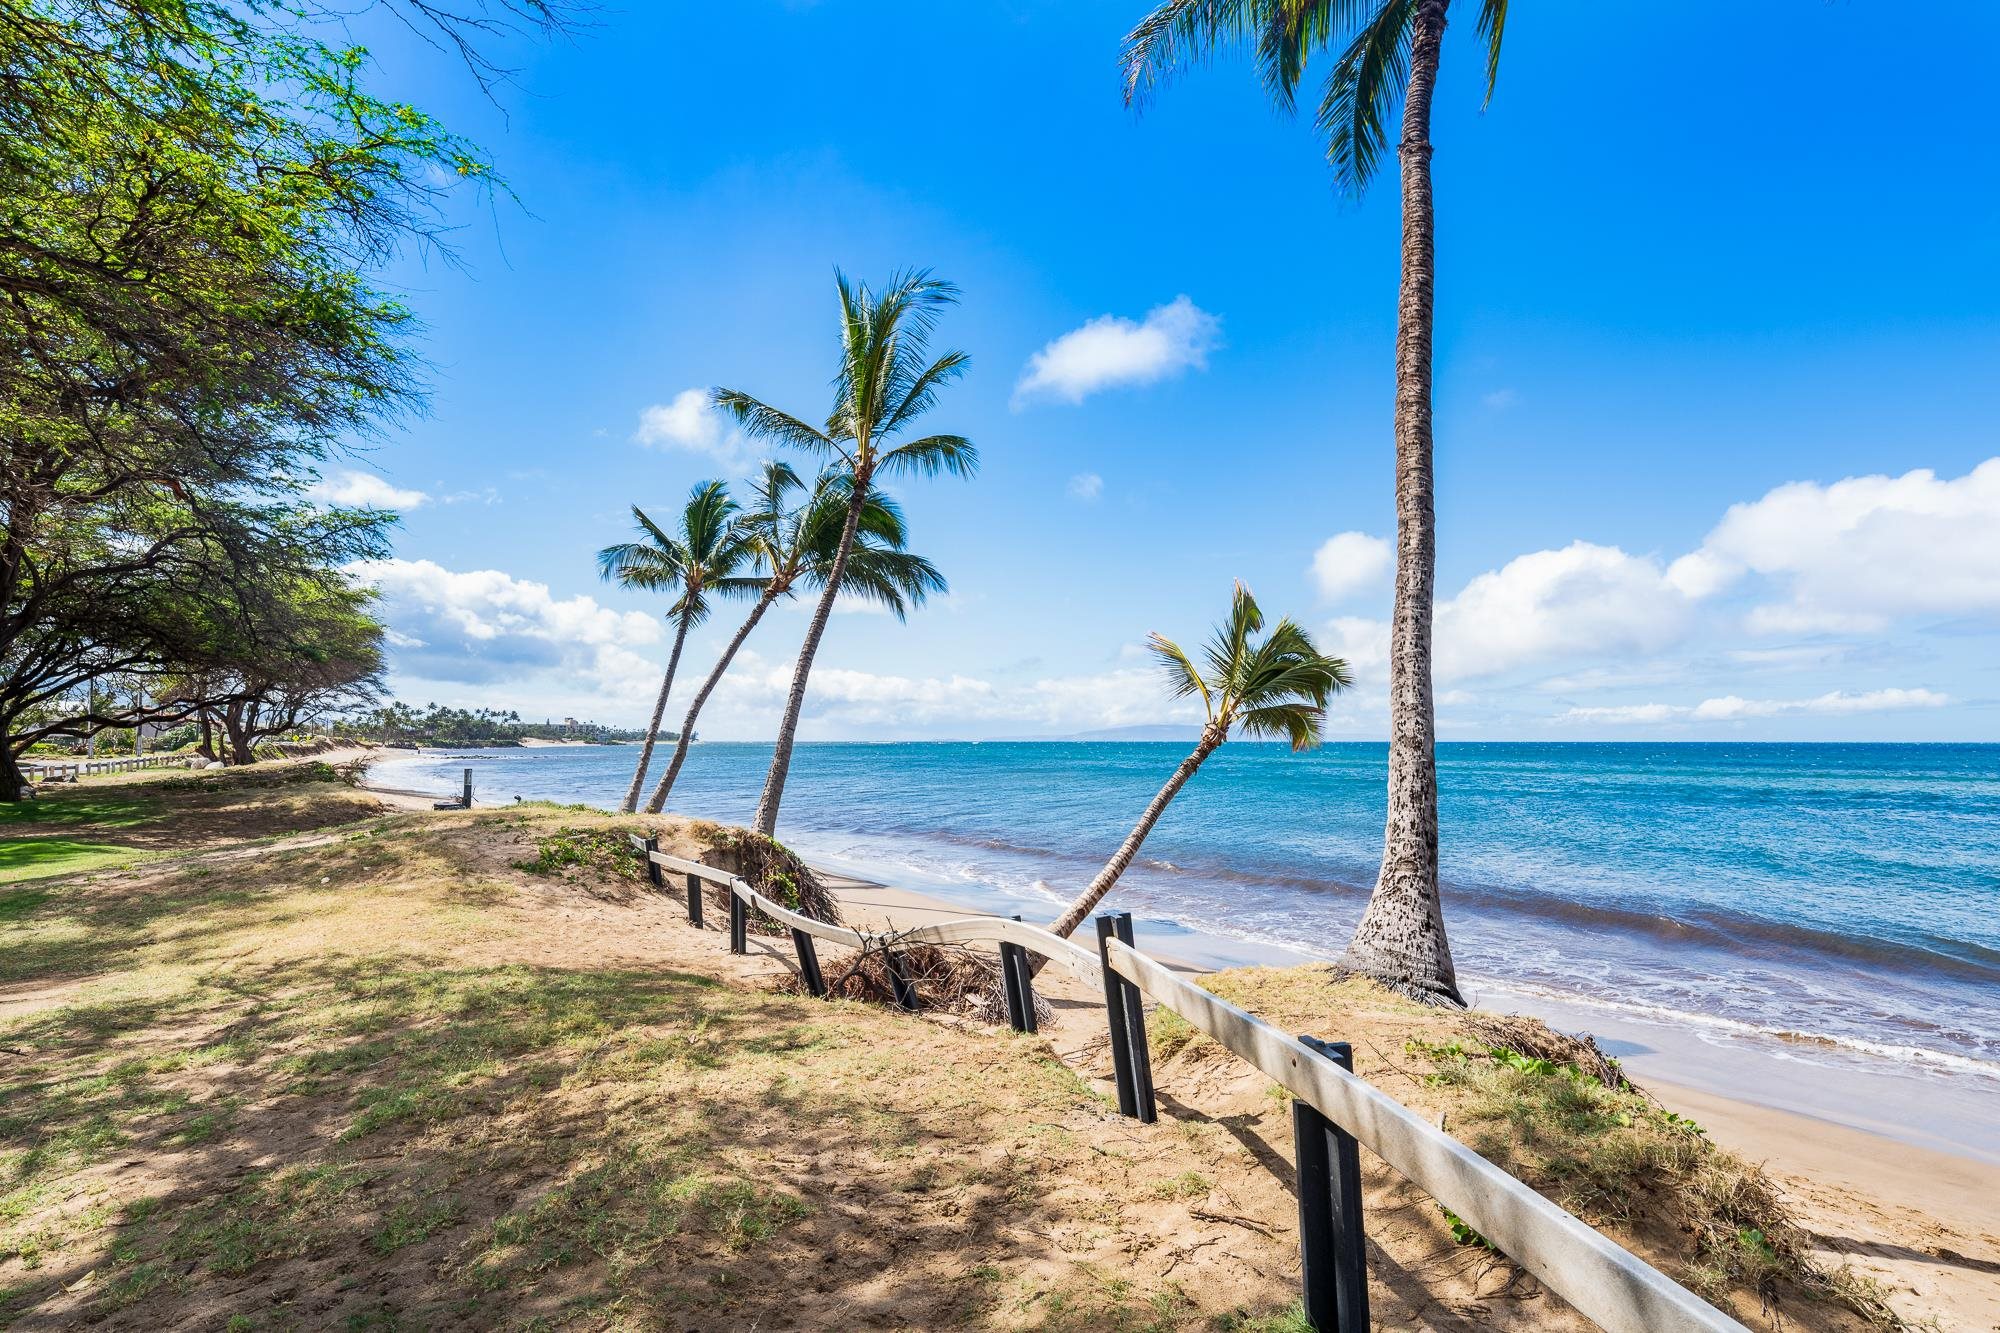
{"label": "short, strongly tilted palm leaning right beside the tall trunk", "polygon": [[1216,626],[1216,636],[1202,650],[1206,673],[1178,642],[1152,634],[1148,646],[1166,669],[1174,699],[1198,697],[1208,711],[1202,739],[1194,745],[1194,753],[1174,769],[1174,777],[1166,779],[1166,787],[1138,817],[1118,853],[1048,925],[1050,931],[1068,937],[1082,925],[1090,909],[1112,891],[1118,877],[1132,865],[1132,857],[1138,855],[1152,827],[1160,823],[1168,803],[1180,795],[1202,761],[1230,739],[1232,727],[1246,737],[1280,737],[1290,741],[1294,751],[1308,751],[1320,743],[1326,701],[1334,691],[1348,687],[1348,664],[1338,656],[1322,654],[1312,646],[1306,630],[1290,618],[1278,620],[1260,640],[1256,634],[1262,628],[1264,612],[1258,610],[1250,588],[1238,582],[1230,602],[1230,618]]}

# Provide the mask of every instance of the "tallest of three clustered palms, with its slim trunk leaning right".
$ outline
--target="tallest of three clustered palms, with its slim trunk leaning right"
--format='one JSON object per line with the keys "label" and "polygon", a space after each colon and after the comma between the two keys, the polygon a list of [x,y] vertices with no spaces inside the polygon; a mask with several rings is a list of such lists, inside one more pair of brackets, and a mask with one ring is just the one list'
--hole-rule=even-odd
{"label": "tallest of three clustered palms, with its slim trunk leaning right", "polygon": [[826,570],[820,602],[812,608],[806,640],[792,671],[792,693],[778,725],[778,747],[764,775],[764,795],[756,803],[756,831],[770,837],[778,829],[784,779],[792,769],[798,715],[806,707],[806,679],[826,634],[826,618],[846,578],[848,552],[860,532],[862,512],[874,498],[878,476],[970,476],[978,450],[958,434],[926,434],[896,442],[916,418],[932,408],[938,390],[966,372],[964,352],[930,358],[930,334],[938,314],[958,300],[958,288],[930,272],[892,274],[880,292],[834,272],[840,294],[840,370],[834,376],[834,406],[824,426],[758,402],[746,392],[718,388],[714,404],[736,418],[750,436],[774,440],[828,460],[846,478],[848,512],[840,528],[834,562]]}

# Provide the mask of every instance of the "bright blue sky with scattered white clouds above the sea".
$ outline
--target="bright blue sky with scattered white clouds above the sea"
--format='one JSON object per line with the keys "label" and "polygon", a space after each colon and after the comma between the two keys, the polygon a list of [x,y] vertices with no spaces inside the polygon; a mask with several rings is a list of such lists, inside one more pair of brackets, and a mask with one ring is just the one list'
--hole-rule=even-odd
{"label": "bright blue sky with scattered white clouds above the sea", "polygon": [[[752,456],[684,394],[818,416],[834,266],[928,266],[972,356],[934,428],[984,466],[898,494],[952,594],[836,618],[804,735],[1178,721],[1136,644],[1244,578],[1352,660],[1330,733],[1382,737],[1394,178],[1338,198],[1240,58],[1128,112],[1142,8],[626,6],[506,46],[500,106],[362,32],[520,196],[466,200],[462,268],[386,274],[432,408],[330,478],[400,492],[370,570],[398,695],[640,721],[660,604],[590,556]],[[1458,22],[1444,737],[2000,739],[2000,8],[1924,34],[1860,2],[1518,6],[1482,114]],[[758,630],[704,735],[770,735],[802,628]]]}

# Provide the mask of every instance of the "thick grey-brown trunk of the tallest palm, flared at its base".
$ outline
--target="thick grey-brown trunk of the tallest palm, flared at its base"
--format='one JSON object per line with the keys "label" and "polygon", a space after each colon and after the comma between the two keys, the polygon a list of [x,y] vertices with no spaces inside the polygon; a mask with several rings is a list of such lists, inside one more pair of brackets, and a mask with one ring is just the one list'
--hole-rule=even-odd
{"label": "thick grey-brown trunk of the tallest palm, flared at its base", "polygon": [[1402,294],[1396,308],[1396,610],[1388,648],[1388,823],[1382,873],[1340,965],[1430,1005],[1462,1005],[1438,901],[1438,751],[1430,691],[1436,514],[1430,474],[1434,218],[1430,94],[1444,0],[1426,0],[1410,36],[1402,108]]}

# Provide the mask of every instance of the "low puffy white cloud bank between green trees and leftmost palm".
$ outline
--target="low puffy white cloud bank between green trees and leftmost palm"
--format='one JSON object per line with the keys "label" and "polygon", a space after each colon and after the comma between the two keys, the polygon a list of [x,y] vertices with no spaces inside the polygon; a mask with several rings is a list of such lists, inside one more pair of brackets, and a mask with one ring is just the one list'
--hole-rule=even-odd
{"label": "low puffy white cloud bank between green trees and leftmost palm", "polygon": [[558,598],[544,582],[496,568],[448,570],[432,560],[360,560],[388,626],[392,673],[514,693],[538,683],[586,687],[606,699],[650,697],[664,638],[654,616],[612,610],[590,596]]}

